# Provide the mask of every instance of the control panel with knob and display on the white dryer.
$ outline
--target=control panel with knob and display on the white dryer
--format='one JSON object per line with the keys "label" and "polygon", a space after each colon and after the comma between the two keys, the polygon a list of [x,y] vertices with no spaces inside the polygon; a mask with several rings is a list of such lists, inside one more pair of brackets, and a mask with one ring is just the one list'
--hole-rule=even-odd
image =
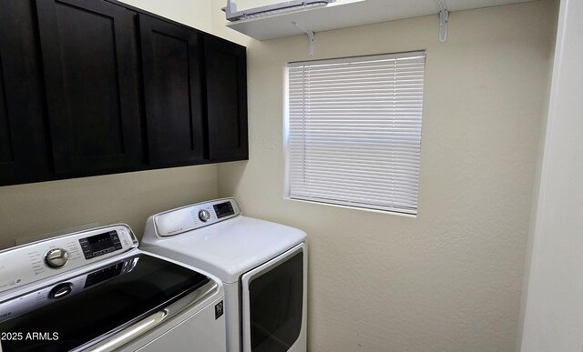
{"label": "control panel with knob and display on the white dryer", "polygon": [[183,206],[153,216],[157,236],[176,236],[241,214],[234,198]]}

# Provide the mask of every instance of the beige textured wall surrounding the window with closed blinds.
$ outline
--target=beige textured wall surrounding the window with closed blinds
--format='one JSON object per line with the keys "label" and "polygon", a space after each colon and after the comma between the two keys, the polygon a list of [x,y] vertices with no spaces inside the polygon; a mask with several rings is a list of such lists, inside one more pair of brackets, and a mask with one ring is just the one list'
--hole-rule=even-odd
{"label": "beige textured wall surrounding the window with closed blinds", "polygon": [[416,218],[282,199],[283,72],[308,45],[251,41],[251,159],[219,193],[308,232],[309,350],[514,350],[555,10],[453,13],[445,44],[436,15],[316,34],[317,59],[427,50]]}

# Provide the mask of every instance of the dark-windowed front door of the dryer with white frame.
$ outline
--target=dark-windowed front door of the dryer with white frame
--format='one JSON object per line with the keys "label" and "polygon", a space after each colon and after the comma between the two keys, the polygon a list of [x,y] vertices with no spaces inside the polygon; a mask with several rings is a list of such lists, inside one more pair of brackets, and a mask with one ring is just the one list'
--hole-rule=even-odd
{"label": "dark-windowed front door of the dryer with white frame", "polygon": [[241,278],[243,351],[305,351],[305,244]]}

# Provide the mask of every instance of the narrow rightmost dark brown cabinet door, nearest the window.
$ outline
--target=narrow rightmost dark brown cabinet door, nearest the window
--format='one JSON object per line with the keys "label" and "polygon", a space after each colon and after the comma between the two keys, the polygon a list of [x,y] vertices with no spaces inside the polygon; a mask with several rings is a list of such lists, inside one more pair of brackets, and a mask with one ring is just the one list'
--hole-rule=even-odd
{"label": "narrow rightmost dark brown cabinet door, nearest the window", "polygon": [[207,36],[204,49],[210,160],[247,159],[245,47]]}

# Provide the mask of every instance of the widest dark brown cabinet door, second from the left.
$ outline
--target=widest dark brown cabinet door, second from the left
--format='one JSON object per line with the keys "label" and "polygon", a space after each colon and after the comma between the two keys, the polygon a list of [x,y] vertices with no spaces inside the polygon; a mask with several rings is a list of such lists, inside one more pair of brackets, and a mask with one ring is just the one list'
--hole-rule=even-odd
{"label": "widest dark brown cabinet door, second from the left", "polygon": [[57,174],[142,163],[131,13],[101,0],[37,0]]}

